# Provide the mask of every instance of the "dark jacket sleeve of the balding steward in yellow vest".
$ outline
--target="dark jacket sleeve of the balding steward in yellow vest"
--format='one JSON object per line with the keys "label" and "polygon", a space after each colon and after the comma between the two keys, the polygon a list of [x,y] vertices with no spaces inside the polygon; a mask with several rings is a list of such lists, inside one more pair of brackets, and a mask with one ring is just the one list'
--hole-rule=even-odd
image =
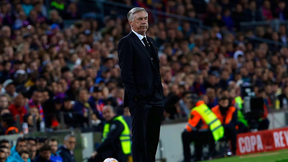
{"label": "dark jacket sleeve of the balding steward in yellow vest", "polygon": [[110,125],[110,132],[107,134],[107,138],[97,148],[97,152],[105,150],[105,148],[111,148],[119,136],[124,130],[124,125],[120,121],[113,121]]}

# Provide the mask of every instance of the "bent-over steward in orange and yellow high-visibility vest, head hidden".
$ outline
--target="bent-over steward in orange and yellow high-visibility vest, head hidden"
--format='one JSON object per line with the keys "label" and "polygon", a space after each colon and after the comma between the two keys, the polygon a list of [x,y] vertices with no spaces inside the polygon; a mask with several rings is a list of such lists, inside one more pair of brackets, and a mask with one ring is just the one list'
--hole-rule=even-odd
{"label": "bent-over steward in orange and yellow high-visibility vest, head hidden", "polygon": [[[195,101],[194,101],[195,102]],[[196,161],[201,161],[202,145],[209,144],[209,156],[212,157],[215,141],[224,135],[221,121],[208,108],[204,101],[198,101],[191,110],[188,123],[182,132],[182,143],[185,162],[191,160],[190,143],[194,142]]]}

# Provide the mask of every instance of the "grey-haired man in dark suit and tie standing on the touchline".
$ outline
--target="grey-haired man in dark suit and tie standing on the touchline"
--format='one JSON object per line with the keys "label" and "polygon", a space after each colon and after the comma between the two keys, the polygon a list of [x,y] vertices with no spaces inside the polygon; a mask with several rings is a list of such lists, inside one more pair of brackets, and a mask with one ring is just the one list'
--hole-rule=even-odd
{"label": "grey-haired man in dark suit and tie standing on the touchline", "polygon": [[124,83],[123,107],[132,118],[133,161],[154,162],[164,111],[158,50],[146,37],[148,13],[133,8],[127,14],[132,31],[119,41],[118,57]]}

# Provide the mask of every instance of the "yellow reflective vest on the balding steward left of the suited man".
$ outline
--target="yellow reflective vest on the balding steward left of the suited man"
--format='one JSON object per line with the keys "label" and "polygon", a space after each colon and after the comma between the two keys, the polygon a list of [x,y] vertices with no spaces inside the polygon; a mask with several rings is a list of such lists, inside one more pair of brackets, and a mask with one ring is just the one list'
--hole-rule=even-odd
{"label": "yellow reflective vest on the balding steward left of the suited man", "polygon": [[[121,141],[122,151],[124,154],[130,154],[131,153],[131,137],[130,137],[130,130],[128,127],[128,124],[124,120],[122,116],[118,116],[113,119],[113,121],[118,120],[124,125],[124,130],[122,131],[119,139]],[[110,132],[110,123],[106,123],[104,125],[103,130],[103,138],[102,142],[107,138],[107,134]]]}

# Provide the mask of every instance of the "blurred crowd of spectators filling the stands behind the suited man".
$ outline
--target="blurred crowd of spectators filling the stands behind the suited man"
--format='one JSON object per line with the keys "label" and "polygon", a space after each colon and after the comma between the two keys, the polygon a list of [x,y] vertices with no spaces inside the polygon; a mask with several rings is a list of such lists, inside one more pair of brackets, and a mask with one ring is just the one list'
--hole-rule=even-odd
{"label": "blurred crowd of spectators filling the stands behind the suited man", "polygon": [[[91,125],[102,131],[105,105],[129,117],[129,109],[122,108],[124,88],[117,56],[118,41],[131,31],[125,15],[111,14],[102,22],[81,19],[77,1],[50,1],[50,10],[43,0],[0,2],[1,135]],[[150,23],[146,34],[159,52],[163,120],[189,117],[195,96],[209,108],[218,105],[224,94],[231,103],[244,82],[264,98],[268,111],[288,108],[288,48],[246,39],[262,37],[287,45],[286,26],[240,32],[239,25],[287,20],[287,1],[123,3],[201,19],[210,26],[199,30],[189,21],[169,17]],[[80,20],[65,28],[64,20],[70,19]]]}

